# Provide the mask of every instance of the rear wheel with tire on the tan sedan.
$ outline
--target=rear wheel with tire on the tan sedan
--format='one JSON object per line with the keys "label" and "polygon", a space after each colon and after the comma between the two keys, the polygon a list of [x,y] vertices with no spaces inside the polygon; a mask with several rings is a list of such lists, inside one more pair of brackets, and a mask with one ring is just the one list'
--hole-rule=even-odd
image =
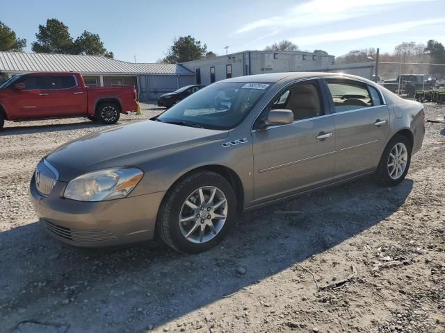
{"label": "rear wheel with tire on the tan sedan", "polygon": [[[403,157],[401,156],[394,160],[393,156],[397,155],[395,150],[396,146],[398,147],[397,152],[402,148],[402,152],[405,151],[405,153],[401,153]],[[400,184],[402,180],[405,179],[408,169],[410,169],[411,151],[412,146],[406,137],[403,135],[394,135],[385,147],[377,171],[375,171],[375,178],[378,182],[385,186],[396,186]],[[395,166],[390,166],[389,164],[395,164]],[[400,169],[398,167],[400,167]]]}

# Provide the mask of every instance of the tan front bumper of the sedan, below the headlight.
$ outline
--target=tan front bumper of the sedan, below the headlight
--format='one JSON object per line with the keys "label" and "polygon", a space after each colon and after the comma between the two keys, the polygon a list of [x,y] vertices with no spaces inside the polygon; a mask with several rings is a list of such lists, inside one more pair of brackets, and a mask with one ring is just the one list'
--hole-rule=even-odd
{"label": "tan front bumper of the sedan, below the headlight", "polygon": [[56,182],[48,197],[30,190],[34,209],[56,239],[83,247],[114,246],[153,239],[156,215],[165,192],[129,198],[82,202],[63,198],[66,182]]}

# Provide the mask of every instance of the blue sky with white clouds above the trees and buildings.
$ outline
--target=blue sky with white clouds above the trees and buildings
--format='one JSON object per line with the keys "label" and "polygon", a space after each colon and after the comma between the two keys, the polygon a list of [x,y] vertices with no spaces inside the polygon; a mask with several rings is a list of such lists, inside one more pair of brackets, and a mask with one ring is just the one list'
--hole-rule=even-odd
{"label": "blue sky with white clouds above the trees and buildings", "polygon": [[38,25],[53,17],[72,37],[99,34],[116,59],[131,62],[163,58],[182,35],[220,55],[227,45],[230,53],[282,39],[334,56],[367,47],[391,52],[411,40],[445,44],[445,0],[0,0],[0,21],[28,40],[27,51]]}

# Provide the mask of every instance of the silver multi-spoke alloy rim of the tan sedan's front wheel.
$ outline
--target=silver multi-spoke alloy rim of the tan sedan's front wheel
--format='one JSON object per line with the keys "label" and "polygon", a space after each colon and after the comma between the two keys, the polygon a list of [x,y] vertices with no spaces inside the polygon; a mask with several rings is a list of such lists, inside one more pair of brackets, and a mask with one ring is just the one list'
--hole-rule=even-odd
{"label": "silver multi-spoke alloy rim of the tan sedan's front wheel", "polygon": [[223,229],[227,210],[227,199],[218,187],[195,189],[179,212],[182,235],[195,244],[210,241]]}

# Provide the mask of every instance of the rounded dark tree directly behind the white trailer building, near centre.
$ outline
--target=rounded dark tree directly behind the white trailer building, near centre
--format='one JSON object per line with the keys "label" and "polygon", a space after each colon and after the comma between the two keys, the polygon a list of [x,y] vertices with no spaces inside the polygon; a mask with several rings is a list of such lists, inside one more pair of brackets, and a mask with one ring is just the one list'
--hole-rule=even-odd
{"label": "rounded dark tree directly behind the white trailer building, near centre", "polygon": [[164,62],[176,64],[178,62],[198,60],[204,58],[206,53],[207,45],[201,46],[200,40],[195,40],[191,35],[188,35],[173,40],[173,45],[170,46]]}

